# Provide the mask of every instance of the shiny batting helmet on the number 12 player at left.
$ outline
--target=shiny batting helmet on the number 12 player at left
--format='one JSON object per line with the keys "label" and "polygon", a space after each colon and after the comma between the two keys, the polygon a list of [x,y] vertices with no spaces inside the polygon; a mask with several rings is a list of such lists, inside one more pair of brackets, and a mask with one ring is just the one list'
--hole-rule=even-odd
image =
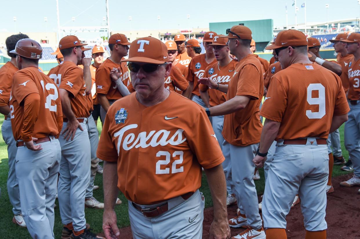
{"label": "shiny batting helmet on the number 12 player at left", "polygon": [[10,53],[38,60],[42,57],[42,47],[37,41],[30,38],[24,38],[16,43],[15,49],[10,51]]}

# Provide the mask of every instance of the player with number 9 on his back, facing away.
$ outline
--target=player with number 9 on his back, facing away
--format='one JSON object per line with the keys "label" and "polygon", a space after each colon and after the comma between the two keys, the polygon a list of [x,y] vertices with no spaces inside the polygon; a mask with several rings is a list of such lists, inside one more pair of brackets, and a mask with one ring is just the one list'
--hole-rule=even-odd
{"label": "player with number 9 on his back, facing away", "polygon": [[253,159],[262,167],[267,150],[277,141],[262,201],[266,238],[287,238],[285,217],[299,193],[305,238],[325,239],[326,139],[347,120],[345,92],[336,74],[309,60],[304,33],[282,31],[267,48],[276,51],[283,70],[272,77],[261,108],[266,120]]}

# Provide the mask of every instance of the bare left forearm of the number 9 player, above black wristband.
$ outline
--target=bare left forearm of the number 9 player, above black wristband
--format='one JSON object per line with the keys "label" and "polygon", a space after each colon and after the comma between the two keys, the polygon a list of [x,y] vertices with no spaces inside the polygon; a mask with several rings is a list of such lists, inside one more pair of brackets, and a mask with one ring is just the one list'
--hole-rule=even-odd
{"label": "bare left forearm of the number 9 player, above black wristband", "polygon": [[269,151],[271,144],[273,144],[276,135],[278,135],[280,122],[265,119],[264,127],[262,127],[260,138],[260,153]]}

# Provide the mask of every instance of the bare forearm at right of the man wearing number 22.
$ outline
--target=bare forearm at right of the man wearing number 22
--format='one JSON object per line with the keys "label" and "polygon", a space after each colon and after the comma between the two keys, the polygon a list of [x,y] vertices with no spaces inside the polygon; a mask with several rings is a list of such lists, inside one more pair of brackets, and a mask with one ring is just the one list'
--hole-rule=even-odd
{"label": "bare forearm at right of the man wearing number 22", "polygon": [[214,221],[227,220],[226,210],[226,182],[222,165],[204,169],[210,187],[212,202],[214,205]]}

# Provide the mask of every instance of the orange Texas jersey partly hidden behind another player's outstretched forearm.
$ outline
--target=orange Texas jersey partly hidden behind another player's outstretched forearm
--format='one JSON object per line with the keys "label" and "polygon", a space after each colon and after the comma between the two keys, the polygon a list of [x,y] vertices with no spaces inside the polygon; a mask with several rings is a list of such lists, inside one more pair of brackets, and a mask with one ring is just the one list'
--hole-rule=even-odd
{"label": "orange Texas jersey partly hidden behind another player's outstretched forearm", "polygon": [[[210,78],[210,80],[221,85],[229,85],[230,79],[234,74],[237,61],[231,60],[226,66],[219,66],[219,62],[213,63],[206,67],[204,78]],[[199,84],[201,91],[209,90],[209,103],[210,106],[217,106],[226,101],[226,94],[216,89],[209,89],[207,85]]]}

